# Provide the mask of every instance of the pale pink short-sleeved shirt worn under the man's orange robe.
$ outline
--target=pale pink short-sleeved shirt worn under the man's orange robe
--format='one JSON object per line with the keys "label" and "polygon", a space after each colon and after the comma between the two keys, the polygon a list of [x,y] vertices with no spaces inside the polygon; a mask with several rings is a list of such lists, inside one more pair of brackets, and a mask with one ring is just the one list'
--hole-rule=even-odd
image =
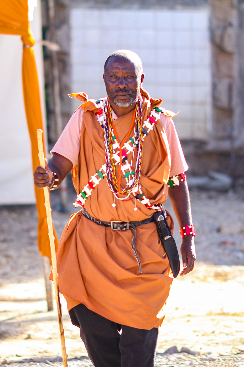
{"label": "pale pink short-sleeved shirt worn under the man's orange robe", "polygon": [[[83,109],[79,108],[70,121],[64,128],[64,131],[60,135],[59,140],[51,150],[51,153],[59,153],[61,156],[69,159],[73,167],[78,164],[78,157],[80,152],[80,131],[82,127]],[[112,110],[112,118],[116,119],[117,116]],[[176,132],[173,120],[165,115],[161,115],[160,121],[164,127],[166,136],[169,142],[169,149],[171,155],[171,169],[170,177],[178,175],[181,172],[188,170],[187,163],[180,145],[179,137]]]}

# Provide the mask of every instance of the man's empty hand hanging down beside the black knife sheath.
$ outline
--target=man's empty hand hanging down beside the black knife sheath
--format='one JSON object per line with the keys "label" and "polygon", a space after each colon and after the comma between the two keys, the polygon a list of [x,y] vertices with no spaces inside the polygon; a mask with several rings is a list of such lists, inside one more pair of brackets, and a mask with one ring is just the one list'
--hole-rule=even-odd
{"label": "man's empty hand hanging down beside the black knife sheath", "polygon": [[192,271],[192,269],[194,268],[195,261],[196,261],[194,237],[185,236],[182,239],[180,252],[182,255],[182,262],[183,262],[183,268],[184,268],[182,272],[180,273],[180,275],[185,275]]}

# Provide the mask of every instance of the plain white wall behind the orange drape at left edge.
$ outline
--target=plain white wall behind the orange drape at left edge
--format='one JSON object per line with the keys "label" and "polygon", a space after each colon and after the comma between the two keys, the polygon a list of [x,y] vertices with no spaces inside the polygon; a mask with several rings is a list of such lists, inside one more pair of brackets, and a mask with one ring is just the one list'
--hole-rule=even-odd
{"label": "plain white wall behind the orange drape at left edge", "polygon": [[[37,40],[41,37],[40,15],[38,2],[32,21]],[[40,43],[35,46],[35,51],[44,110]],[[20,36],[0,34],[0,204],[35,203],[30,138],[22,91],[22,53]]]}

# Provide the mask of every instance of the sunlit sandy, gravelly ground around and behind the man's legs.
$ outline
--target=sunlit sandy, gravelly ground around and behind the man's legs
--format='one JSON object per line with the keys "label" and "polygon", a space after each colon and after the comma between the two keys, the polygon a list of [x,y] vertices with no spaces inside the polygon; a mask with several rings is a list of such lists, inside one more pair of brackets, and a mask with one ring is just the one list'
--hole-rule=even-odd
{"label": "sunlit sandy, gravelly ground around and behind the man's legs", "polygon": [[[159,329],[156,366],[244,367],[244,354],[238,349],[244,345],[243,198],[242,191],[191,192],[198,260],[191,274],[173,281],[165,321]],[[52,193],[59,237],[75,211],[74,199],[70,190],[69,212],[60,213],[58,192]],[[165,206],[172,213],[169,203]],[[0,207],[0,364],[60,365],[57,314],[46,310],[36,228],[34,206]],[[174,237],[180,246],[177,225]],[[63,297],[61,303],[69,365],[91,366]],[[161,354],[174,345],[200,355]]]}

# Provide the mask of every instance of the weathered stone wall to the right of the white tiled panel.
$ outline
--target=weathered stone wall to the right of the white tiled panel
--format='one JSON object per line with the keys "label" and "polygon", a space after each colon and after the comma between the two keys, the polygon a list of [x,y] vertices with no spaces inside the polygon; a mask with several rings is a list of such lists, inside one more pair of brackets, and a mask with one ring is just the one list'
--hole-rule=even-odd
{"label": "weathered stone wall to the right of the white tiled panel", "polygon": [[182,142],[191,174],[244,177],[244,2],[210,0],[213,118],[209,142]]}

